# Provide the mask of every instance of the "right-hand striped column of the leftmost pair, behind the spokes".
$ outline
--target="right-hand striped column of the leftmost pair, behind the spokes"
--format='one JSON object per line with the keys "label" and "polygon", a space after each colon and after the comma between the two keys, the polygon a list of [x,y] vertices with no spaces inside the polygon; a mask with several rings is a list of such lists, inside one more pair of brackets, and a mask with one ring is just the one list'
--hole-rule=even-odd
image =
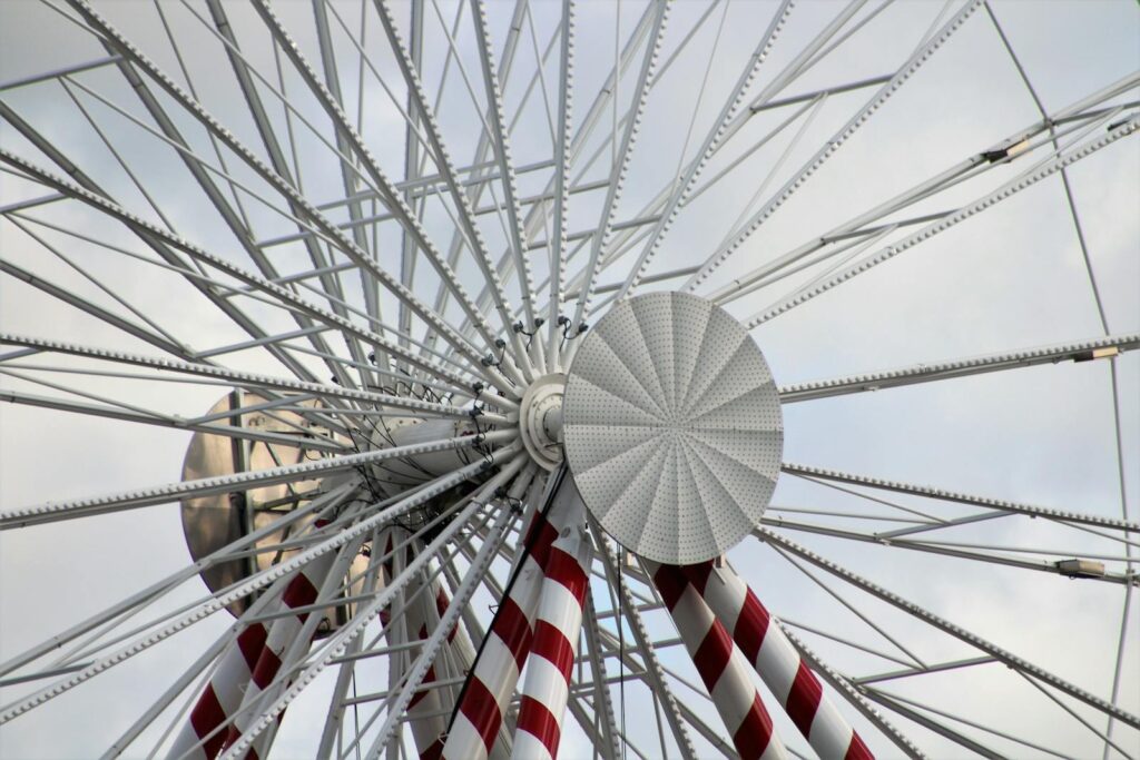
{"label": "right-hand striped column of the leftmost pair, behind the spokes", "polygon": [[[285,587],[285,593],[282,594],[280,611],[302,607],[316,602],[318,589],[324,585],[325,578],[335,562],[336,553],[328,551],[316,557],[312,562],[293,573],[288,585]],[[282,659],[301,632],[301,628],[304,626],[304,621],[309,614],[302,612],[286,618],[277,618],[272,621],[264,645],[258,655],[258,662],[253,668],[249,685],[245,688],[245,695],[242,697],[242,708],[252,705],[261,700],[263,690],[269,687],[277,676],[277,671],[280,670]],[[256,719],[256,709],[249,709],[237,714],[234,722],[230,724],[229,734],[226,737],[222,749],[225,750],[236,742]],[[270,735],[264,733],[262,736],[268,741]],[[253,747],[250,747],[246,758],[256,760],[259,757],[259,745],[263,745],[263,742],[258,742]]]}

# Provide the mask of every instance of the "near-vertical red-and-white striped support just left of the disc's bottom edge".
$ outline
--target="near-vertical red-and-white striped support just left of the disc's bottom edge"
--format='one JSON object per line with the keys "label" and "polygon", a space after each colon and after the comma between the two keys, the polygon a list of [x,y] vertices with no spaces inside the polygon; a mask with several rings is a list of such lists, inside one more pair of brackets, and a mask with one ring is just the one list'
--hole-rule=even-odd
{"label": "near-vertical red-and-white striped support just left of the disc's bottom edge", "polygon": [[511,753],[522,760],[557,757],[593,557],[586,508],[571,479],[555,496],[548,520],[557,538],[543,566],[545,579]]}

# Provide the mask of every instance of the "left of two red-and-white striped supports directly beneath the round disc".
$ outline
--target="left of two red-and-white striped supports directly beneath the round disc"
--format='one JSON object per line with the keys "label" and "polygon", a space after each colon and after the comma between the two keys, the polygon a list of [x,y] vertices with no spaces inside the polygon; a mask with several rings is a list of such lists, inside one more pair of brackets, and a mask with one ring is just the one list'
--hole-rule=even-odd
{"label": "left of two red-and-white striped supports directly beneath the round disc", "polygon": [[705,603],[698,589],[676,565],[645,562],[677,626],[689,656],[712,697],[732,743],[743,760],[787,758],[788,751],[772,728],[751,667],[733,646],[732,637]]}

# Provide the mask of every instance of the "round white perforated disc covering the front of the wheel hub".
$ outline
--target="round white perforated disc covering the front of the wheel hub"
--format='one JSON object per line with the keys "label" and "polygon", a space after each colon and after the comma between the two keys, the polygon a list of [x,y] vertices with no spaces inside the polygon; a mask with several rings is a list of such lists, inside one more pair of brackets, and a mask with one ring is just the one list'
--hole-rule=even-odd
{"label": "round white perforated disc covering the front of the wheel hub", "polygon": [[650,293],[614,307],[575,357],[563,417],[578,490],[626,548],[700,562],[759,525],[780,398],[759,348],[711,302]]}

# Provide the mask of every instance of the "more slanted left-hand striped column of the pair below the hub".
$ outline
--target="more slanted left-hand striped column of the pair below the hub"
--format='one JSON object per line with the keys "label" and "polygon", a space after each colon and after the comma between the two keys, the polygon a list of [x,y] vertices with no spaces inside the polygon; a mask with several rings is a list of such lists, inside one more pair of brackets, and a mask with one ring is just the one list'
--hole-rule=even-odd
{"label": "more slanted left-hand striped column of the pair below the hub", "polygon": [[530,653],[543,565],[557,532],[536,513],[526,536],[522,546],[530,553],[499,603],[448,730],[442,757],[450,760],[486,760]]}

